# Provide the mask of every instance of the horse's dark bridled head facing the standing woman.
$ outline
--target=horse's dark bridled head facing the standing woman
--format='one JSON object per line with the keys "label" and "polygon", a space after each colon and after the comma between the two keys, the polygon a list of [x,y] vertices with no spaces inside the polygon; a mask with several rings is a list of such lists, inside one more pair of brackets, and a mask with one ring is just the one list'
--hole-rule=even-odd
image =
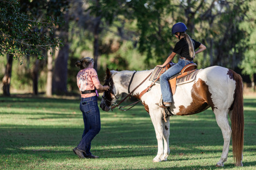
{"label": "horse's dark bridled head facing the standing woman", "polygon": [[109,90],[108,91],[104,91],[102,99],[101,99],[101,103],[100,103],[100,108],[103,111],[108,112],[111,107],[115,104],[117,96],[119,96],[117,94],[117,89],[115,87],[114,81],[113,81],[113,77],[112,77],[112,73],[109,71],[109,69],[106,70],[106,80],[103,86],[109,86]]}

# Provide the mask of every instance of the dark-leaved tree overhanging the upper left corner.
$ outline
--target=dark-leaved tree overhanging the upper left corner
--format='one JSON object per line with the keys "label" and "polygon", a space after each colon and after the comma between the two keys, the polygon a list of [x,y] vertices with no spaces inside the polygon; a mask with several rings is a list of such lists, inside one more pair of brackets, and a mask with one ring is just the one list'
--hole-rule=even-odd
{"label": "dark-leaved tree overhanging the upper left corner", "polygon": [[[12,65],[10,56],[19,58],[22,64],[23,56],[35,55],[38,59],[42,59],[41,49],[55,48],[60,44],[59,39],[50,36],[53,25],[57,24],[58,20],[53,20],[50,17],[43,18],[40,21],[35,20],[21,12],[17,0],[0,0],[0,18],[0,33],[2,34],[0,37],[0,55],[10,54],[7,55],[9,60],[5,71],[9,75],[11,75],[11,67],[8,65]],[[46,34],[44,30],[49,30],[47,32],[49,34]],[[6,79],[5,76],[3,82],[9,79],[11,77]],[[4,95],[10,96],[10,80],[4,83],[3,90]]]}

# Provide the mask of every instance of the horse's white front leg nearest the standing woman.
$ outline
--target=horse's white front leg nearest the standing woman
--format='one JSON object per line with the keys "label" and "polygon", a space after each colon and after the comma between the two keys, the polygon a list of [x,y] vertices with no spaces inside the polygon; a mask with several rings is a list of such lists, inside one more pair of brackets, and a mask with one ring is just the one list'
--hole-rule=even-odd
{"label": "horse's white front leg nearest the standing woman", "polygon": [[153,159],[153,162],[161,162],[161,158],[164,155],[164,146],[163,146],[163,128],[162,128],[162,116],[158,111],[149,111],[151,121],[154,125],[157,139],[158,151],[156,157]]}

